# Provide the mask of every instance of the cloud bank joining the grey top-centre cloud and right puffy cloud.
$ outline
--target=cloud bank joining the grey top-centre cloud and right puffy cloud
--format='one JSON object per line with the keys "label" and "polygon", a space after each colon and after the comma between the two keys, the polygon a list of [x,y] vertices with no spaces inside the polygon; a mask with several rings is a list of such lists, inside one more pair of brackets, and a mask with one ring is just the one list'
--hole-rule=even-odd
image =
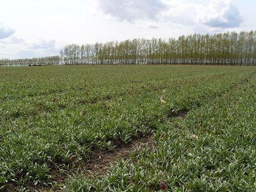
{"label": "cloud bank joining the grey top-centre cloud and right puffy cloud", "polygon": [[[239,27],[240,10],[231,0],[212,0],[207,6],[184,1],[164,0],[99,0],[99,8],[119,21],[165,21],[180,25],[204,25],[210,28]],[[157,28],[157,24],[147,28]]]}

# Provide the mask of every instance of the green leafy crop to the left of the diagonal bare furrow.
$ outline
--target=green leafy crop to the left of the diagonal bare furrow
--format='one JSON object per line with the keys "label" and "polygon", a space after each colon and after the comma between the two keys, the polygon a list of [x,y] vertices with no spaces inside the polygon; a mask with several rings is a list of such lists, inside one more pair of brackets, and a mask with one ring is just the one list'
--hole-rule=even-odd
{"label": "green leafy crop to the left of the diagonal bare furrow", "polygon": [[[57,69],[63,73],[54,78],[65,79],[60,85],[64,91],[41,94],[40,89],[54,87],[49,83],[52,70]],[[1,102],[0,183],[51,183],[51,171],[70,169],[71,156],[83,165],[95,148],[114,148],[115,141],[127,143],[157,130],[168,116],[196,108],[243,83],[252,74],[250,69],[106,66],[7,71],[13,78],[30,72],[45,87],[35,80],[31,83],[35,94],[29,96],[31,90],[20,87],[29,85],[26,78],[18,85],[5,85],[5,90],[21,89],[24,94],[16,99],[8,94],[9,99]],[[84,86],[78,85],[77,78],[65,78],[89,73],[93,80],[85,90],[73,89]],[[6,78],[10,80],[10,76]]]}

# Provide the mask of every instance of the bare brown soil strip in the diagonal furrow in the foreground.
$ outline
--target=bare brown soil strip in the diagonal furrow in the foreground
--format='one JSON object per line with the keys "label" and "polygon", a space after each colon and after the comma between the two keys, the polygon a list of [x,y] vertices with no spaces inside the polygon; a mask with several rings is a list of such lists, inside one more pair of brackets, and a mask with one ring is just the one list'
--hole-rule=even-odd
{"label": "bare brown soil strip in the diagonal furrow in the foreground", "polygon": [[[138,137],[131,140],[129,143],[124,144],[121,142],[115,143],[115,148],[112,150],[94,150],[88,154],[87,160],[85,160],[82,165],[78,163],[77,168],[66,172],[60,173],[59,171],[52,171],[51,176],[55,183],[58,183],[57,187],[35,187],[33,185],[27,185],[26,191],[60,191],[60,185],[64,185],[69,176],[76,173],[77,171],[82,172],[87,177],[102,175],[110,167],[111,163],[118,162],[121,159],[128,159],[132,152],[137,150],[153,148],[154,147],[154,137],[152,134],[146,135],[144,137]],[[74,157],[71,157],[73,160]],[[76,165],[77,162],[74,162]],[[79,165],[80,164],[80,165]],[[9,183],[4,192],[14,192],[17,191],[14,183]]]}

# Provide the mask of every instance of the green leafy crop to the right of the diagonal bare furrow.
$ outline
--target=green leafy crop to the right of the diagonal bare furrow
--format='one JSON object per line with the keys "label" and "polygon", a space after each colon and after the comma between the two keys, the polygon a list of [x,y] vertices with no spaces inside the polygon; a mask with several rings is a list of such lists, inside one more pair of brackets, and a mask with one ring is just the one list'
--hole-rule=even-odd
{"label": "green leafy crop to the right of the diagonal bare furrow", "polygon": [[103,176],[69,180],[63,191],[254,191],[255,77],[163,122],[154,148],[136,151]]}

